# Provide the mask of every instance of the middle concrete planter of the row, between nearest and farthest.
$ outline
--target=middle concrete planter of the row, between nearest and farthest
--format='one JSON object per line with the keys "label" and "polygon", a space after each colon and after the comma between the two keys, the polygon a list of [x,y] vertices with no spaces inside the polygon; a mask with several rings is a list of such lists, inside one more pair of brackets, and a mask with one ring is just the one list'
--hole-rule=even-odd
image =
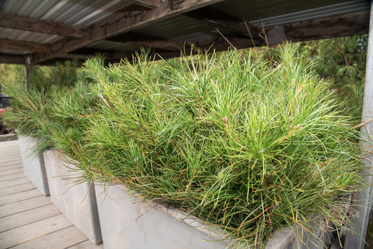
{"label": "middle concrete planter of the row, between nearest and farthest", "polygon": [[58,151],[44,152],[44,161],[52,202],[92,243],[101,243],[93,185],[90,187],[89,182],[74,185],[71,178],[75,178],[76,173],[71,172],[71,169],[74,169],[75,165],[68,163],[69,158]]}

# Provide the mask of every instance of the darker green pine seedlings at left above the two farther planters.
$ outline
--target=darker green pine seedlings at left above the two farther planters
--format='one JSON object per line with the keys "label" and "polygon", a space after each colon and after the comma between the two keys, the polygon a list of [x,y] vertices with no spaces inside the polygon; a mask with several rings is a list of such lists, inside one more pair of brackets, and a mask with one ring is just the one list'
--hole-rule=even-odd
{"label": "darker green pine seedlings at left above the two farther planters", "polygon": [[82,139],[84,122],[94,106],[89,80],[77,62],[34,68],[24,82],[2,82],[12,96],[1,116],[21,136],[37,139],[33,154],[58,149],[72,156],[71,144]]}

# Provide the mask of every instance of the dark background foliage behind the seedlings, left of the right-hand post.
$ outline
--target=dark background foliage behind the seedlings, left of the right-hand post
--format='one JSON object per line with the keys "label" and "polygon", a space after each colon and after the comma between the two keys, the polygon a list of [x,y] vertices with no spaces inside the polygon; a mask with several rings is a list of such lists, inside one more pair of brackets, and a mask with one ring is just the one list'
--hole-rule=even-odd
{"label": "dark background foliage behind the seedlings, left of the right-hand post", "polygon": [[[337,100],[349,109],[348,115],[359,122],[363,103],[365,63],[367,59],[367,35],[338,37],[299,42],[298,56],[313,64],[312,70],[332,82],[338,93]],[[271,59],[276,47],[248,48],[251,52]],[[253,54],[255,57],[255,54]]]}

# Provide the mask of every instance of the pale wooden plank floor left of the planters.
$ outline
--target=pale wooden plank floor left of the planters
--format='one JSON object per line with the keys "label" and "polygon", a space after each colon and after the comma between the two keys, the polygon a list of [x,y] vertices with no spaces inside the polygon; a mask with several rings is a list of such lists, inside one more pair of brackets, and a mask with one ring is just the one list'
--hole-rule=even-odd
{"label": "pale wooden plank floor left of the planters", "polygon": [[0,249],[102,249],[24,175],[18,140],[0,142]]}

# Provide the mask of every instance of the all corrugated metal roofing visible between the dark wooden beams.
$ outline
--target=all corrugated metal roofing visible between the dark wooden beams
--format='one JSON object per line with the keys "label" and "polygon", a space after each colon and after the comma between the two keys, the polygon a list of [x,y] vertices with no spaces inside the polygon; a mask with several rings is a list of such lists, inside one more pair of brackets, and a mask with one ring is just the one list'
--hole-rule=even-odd
{"label": "all corrugated metal roofing visible between the dark wooden beams", "polygon": [[[159,1],[163,1],[164,3],[170,0]],[[234,17],[237,20],[250,21],[250,24],[253,26],[260,27],[261,19],[264,26],[268,28],[369,10],[370,4],[371,1],[368,0],[226,0],[214,3],[210,8],[220,10],[224,12],[224,15]],[[0,0],[0,11],[87,28],[109,15],[128,8],[130,5],[131,3],[126,0]],[[125,12],[123,13],[125,14]],[[224,21],[224,18],[222,20]],[[161,19],[161,21],[153,22],[151,25],[131,29],[130,32],[135,35],[141,35],[142,37],[156,39],[157,42],[161,42],[162,40],[180,43],[199,42],[203,40],[217,42],[217,38],[221,38],[221,36],[216,32],[216,28],[219,28],[219,31],[224,35],[237,32],[237,30],[234,30],[235,27],[230,28],[228,26],[224,28],[218,24],[196,19],[188,15],[176,15],[168,19]],[[244,35],[247,35],[247,33]],[[0,39],[38,44],[54,44],[63,38],[59,35],[0,27]],[[222,39],[219,39],[219,41],[222,41]],[[84,47],[125,53],[133,53],[140,48],[138,45],[129,44],[128,39],[123,40],[122,43],[117,40],[116,42],[109,42],[103,39],[99,42],[87,44]],[[172,44],[170,44],[170,51],[172,51],[171,48]],[[167,51],[167,46],[164,48],[161,46],[159,49]],[[25,55],[30,52],[8,49],[0,50],[0,53],[14,55]],[[72,56],[78,55],[62,55],[61,57],[67,58]],[[81,56],[79,55],[79,57]]]}

